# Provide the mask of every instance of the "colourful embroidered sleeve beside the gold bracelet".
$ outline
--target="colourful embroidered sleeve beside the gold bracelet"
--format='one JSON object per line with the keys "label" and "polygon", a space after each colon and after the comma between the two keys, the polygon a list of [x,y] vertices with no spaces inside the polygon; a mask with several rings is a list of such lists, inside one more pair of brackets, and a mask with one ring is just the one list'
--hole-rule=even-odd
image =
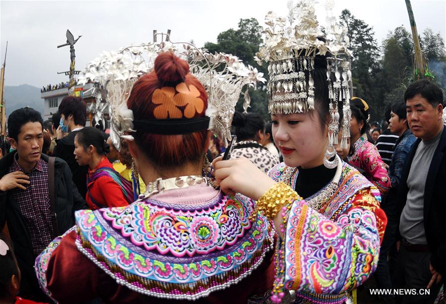
{"label": "colourful embroidered sleeve beside the gold bracelet", "polygon": [[291,207],[285,232],[285,286],[298,292],[340,294],[363,284],[378,263],[386,219],[370,189],[353,196],[332,221],[305,200]]}

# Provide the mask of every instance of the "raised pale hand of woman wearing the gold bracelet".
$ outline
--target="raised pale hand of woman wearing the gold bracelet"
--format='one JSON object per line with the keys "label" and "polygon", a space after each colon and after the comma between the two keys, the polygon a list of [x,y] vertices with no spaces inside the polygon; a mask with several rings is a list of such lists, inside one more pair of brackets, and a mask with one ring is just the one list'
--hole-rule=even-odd
{"label": "raised pale hand of woman wearing the gold bracelet", "polygon": [[223,192],[234,195],[236,192],[257,200],[275,182],[257,168],[249,159],[239,158],[222,161],[217,157],[212,162],[215,184]]}

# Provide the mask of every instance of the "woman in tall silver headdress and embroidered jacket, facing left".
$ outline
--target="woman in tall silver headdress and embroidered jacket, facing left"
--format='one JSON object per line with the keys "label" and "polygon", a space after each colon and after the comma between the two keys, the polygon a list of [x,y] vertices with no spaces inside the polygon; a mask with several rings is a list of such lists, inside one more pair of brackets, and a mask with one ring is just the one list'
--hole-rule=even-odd
{"label": "woman in tall silver headdress and embroidered jacket, facing left", "polygon": [[342,114],[340,145],[350,137],[343,32],[333,22],[320,39],[314,7],[290,10],[289,27],[267,15],[266,48],[257,55],[269,62],[268,108],[284,162],[265,176],[246,159],[217,159],[215,177],[223,191],[257,200],[258,214],[274,221],[273,302],[294,290],[296,303],[346,303],[377,266],[386,217],[380,191],[333,149]]}

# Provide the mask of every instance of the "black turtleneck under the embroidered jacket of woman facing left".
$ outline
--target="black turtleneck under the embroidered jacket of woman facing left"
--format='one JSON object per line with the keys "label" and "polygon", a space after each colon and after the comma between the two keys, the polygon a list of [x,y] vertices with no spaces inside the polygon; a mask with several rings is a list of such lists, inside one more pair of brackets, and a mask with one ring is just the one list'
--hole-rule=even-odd
{"label": "black turtleneck under the embroidered jacket of woman facing left", "polygon": [[310,169],[299,169],[296,181],[296,192],[303,198],[308,198],[331,182],[336,174],[336,168],[328,169],[324,165]]}

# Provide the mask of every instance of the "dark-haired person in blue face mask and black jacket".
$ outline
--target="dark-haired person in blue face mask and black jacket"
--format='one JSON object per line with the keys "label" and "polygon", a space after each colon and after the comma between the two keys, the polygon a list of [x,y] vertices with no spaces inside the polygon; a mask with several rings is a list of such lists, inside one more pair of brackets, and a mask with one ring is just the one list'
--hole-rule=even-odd
{"label": "dark-haired person in blue face mask and black jacket", "polygon": [[57,144],[53,155],[62,158],[69,166],[73,182],[79,193],[85,198],[87,194],[86,177],[88,166],[79,166],[74,159],[74,137],[85,126],[87,108],[80,97],[66,96],[59,105],[61,122],[56,130]]}

